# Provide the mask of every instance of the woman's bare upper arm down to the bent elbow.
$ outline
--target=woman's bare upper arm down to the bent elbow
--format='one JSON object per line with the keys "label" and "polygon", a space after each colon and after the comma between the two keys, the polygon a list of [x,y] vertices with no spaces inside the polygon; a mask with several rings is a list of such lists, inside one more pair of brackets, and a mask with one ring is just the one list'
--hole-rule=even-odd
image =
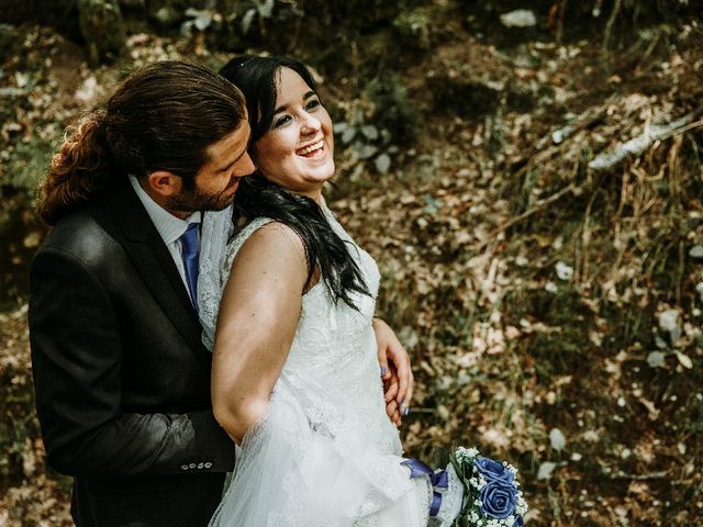
{"label": "woman's bare upper arm down to the bent elbow", "polygon": [[213,349],[215,418],[237,442],[267,412],[300,317],[305,250],[289,227],[270,223],[237,254],[222,293]]}

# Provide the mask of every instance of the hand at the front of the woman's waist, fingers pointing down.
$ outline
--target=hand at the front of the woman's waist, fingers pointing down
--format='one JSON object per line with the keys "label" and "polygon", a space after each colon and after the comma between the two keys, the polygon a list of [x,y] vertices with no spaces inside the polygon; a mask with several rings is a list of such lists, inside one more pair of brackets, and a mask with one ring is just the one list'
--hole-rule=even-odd
{"label": "hand at the front of the woman's waist, fingers pointing down", "polygon": [[410,358],[395,333],[380,318],[373,318],[373,332],[378,343],[386,412],[390,419],[400,426],[402,417],[408,415],[413,395],[414,380]]}

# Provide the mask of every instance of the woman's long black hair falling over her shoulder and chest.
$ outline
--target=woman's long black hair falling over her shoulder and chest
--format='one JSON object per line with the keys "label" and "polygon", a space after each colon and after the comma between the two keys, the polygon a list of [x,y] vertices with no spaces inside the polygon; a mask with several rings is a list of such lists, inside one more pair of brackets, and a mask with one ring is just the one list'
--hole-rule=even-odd
{"label": "woman's long black hair falling over her shoulder and chest", "polygon": [[[271,127],[276,108],[276,79],[281,68],[290,68],[316,91],[305,66],[286,57],[245,55],[230,60],[220,74],[244,93],[252,127],[249,148]],[[260,172],[244,178],[234,199],[235,225],[243,220],[266,216],[288,225],[300,236],[308,259],[308,284],[320,267],[327,291],[357,310],[350,294],[370,294],[347,244],[333,231],[320,205],[312,199],[289,192]],[[356,250],[356,249],[352,249]]]}

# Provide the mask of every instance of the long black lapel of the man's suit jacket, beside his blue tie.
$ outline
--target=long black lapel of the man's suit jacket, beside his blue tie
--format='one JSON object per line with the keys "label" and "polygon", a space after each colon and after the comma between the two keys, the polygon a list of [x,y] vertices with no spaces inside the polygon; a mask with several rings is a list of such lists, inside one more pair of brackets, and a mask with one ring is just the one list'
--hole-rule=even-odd
{"label": "long black lapel of the man's suit jacket, beside his blue tie", "polygon": [[144,205],[127,183],[115,189],[112,204],[122,227],[123,246],[166,315],[203,362],[211,360],[201,340],[202,328],[174,258]]}

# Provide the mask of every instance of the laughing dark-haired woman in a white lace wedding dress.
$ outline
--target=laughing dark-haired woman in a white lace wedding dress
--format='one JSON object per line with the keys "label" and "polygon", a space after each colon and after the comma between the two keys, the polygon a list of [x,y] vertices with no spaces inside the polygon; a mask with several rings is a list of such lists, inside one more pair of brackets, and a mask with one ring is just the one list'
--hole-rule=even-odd
{"label": "laughing dark-haired woman in a white lace wedding dress", "polygon": [[401,464],[372,328],[379,271],[325,204],[334,139],[312,76],[252,56],[222,72],[246,97],[258,171],[203,224],[213,407],[241,447],[211,525],[450,525],[453,469],[437,503],[429,476]]}

